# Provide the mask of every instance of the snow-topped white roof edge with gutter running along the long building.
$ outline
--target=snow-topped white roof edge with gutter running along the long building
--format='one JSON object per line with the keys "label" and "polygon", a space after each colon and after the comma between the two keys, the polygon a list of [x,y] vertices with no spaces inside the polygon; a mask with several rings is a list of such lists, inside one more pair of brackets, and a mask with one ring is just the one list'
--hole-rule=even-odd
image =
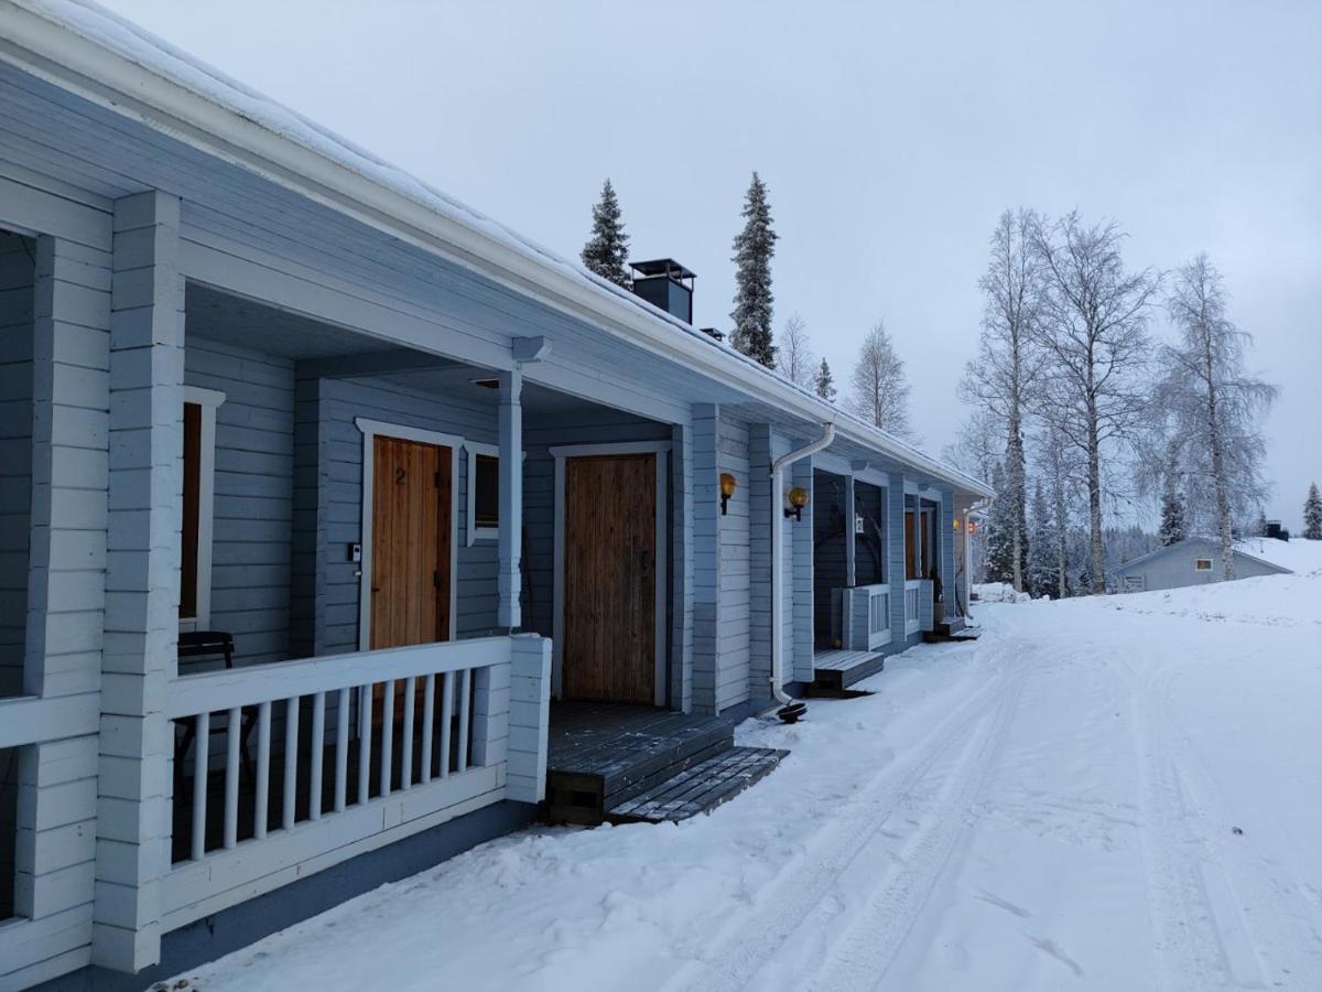
{"label": "snow-topped white roof edge with gutter running along the long building", "polygon": [[842,442],[956,492],[992,495],[985,483],[858,421],[130,21],[71,0],[0,0],[0,9],[7,22],[0,61],[24,73],[689,369],[707,382],[705,402],[743,401],[805,434],[834,422]]}

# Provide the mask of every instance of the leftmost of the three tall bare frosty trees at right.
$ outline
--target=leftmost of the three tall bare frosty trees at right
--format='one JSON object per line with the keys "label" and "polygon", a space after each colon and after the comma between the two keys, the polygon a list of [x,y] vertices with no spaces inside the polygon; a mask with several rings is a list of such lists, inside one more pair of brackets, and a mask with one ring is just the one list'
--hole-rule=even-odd
{"label": "leftmost of the three tall bare frosty trees at right", "polygon": [[1029,563],[1029,534],[1023,526],[1029,500],[1023,422],[1042,364],[1032,339],[1043,294],[1042,259],[1032,242],[1032,231],[1040,224],[1035,213],[1023,208],[1001,214],[992,233],[986,272],[978,280],[984,296],[982,337],[960,384],[964,401],[989,411],[1003,431],[1006,488],[1001,500],[1010,504],[1005,508],[1010,581],[1021,593]]}

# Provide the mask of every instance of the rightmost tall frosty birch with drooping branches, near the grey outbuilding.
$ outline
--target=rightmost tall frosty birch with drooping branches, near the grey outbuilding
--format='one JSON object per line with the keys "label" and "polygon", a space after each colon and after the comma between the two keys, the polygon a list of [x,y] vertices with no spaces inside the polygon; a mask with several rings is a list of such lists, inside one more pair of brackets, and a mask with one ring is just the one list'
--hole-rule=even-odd
{"label": "rightmost tall frosty birch with drooping branches, near the grey outbuilding", "polygon": [[1179,339],[1162,349],[1157,395],[1183,451],[1188,505],[1219,534],[1222,577],[1232,579],[1235,518],[1266,492],[1259,422],[1277,389],[1245,372],[1253,339],[1227,316],[1224,282],[1206,254],[1177,271],[1166,308]]}

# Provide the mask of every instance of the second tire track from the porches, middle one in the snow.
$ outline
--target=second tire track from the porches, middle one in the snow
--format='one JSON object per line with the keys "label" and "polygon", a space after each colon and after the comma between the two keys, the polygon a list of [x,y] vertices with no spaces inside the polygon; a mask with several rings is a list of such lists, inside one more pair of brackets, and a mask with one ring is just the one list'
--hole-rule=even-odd
{"label": "second tire track from the porches, middle one in the snow", "polygon": [[968,828],[970,807],[1001,754],[1018,708],[1026,671],[980,720],[937,798],[921,811],[920,825],[900,849],[899,861],[867,903],[850,914],[843,936],[830,946],[825,967],[808,988],[846,992],[880,984]]}

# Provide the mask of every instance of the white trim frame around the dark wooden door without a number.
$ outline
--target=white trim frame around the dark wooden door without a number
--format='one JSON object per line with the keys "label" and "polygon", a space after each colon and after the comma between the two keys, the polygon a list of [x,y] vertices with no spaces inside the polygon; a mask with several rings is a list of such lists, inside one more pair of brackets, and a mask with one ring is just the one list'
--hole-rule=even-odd
{"label": "white trim frame around the dark wooden door without a number", "polygon": [[669,496],[669,470],[665,455],[669,440],[617,442],[613,444],[561,444],[547,448],[555,459],[555,562],[554,602],[551,608],[551,694],[562,694],[564,638],[564,459],[603,455],[656,455],[657,524],[656,524],[656,668],[653,702],[666,705],[666,501]]}

